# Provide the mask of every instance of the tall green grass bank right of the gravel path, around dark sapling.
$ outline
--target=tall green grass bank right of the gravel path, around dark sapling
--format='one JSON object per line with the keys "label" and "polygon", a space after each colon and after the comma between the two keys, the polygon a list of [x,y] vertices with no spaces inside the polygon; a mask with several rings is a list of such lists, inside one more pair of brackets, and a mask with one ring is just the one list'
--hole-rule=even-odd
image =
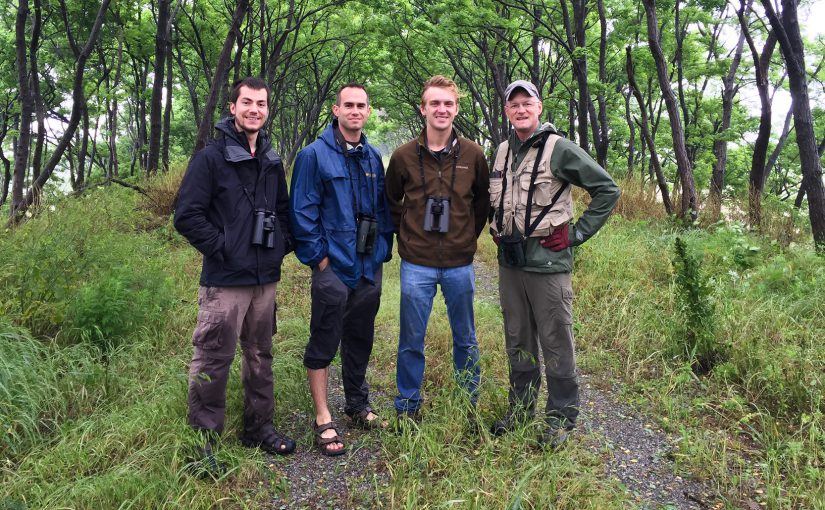
{"label": "tall green grass bank right of the gravel path, around dark sapling", "polygon": [[[702,377],[672,354],[685,341],[677,236],[700,257],[711,341],[726,353]],[[684,231],[617,217],[580,250],[575,275],[584,366],[621,373],[629,397],[684,437],[683,469],[713,479],[732,504],[746,494],[769,508],[825,505],[821,257],[737,224]]]}

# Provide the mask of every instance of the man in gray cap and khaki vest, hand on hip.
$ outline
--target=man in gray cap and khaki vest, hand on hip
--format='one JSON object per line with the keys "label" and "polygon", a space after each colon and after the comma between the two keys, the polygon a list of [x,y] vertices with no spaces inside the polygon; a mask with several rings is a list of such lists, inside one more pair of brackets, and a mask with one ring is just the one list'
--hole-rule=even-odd
{"label": "man in gray cap and khaki vest, hand on hip", "polygon": [[[539,442],[556,448],[579,414],[573,247],[604,225],[620,191],[587,152],[539,121],[543,105],[535,85],[514,81],[504,99],[513,132],[498,146],[490,173],[490,232],[498,245],[510,391],[507,413],[490,431],[501,435],[532,419],[541,387],[540,348],[548,397]],[[591,197],[575,223],[571,184]]]}

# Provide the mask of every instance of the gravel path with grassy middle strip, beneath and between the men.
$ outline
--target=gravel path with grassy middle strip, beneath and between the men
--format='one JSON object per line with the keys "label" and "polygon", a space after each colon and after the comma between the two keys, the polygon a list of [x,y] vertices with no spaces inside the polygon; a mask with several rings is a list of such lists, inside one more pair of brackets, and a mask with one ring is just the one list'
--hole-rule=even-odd
{"label": "gravel path with grassy middle strip, beneath and between the men", "polygon": [[[376,349],[368,377],[373,404],[389,418],[393,414],[395,381],[397,261],[388,264],[387,269],[382,297],[382,313],[387,316],[379,317],[377,322]],[[672,452],[676,439],[652,425],[655,420],[622,402],[618,386],[605,384],[596,376],[581,376],[580,426],[562,450],[541,451],[526,446],[533,437],[528,429],[501,438],[486,431],[498,408],[506,405],[506,391],[502,389],[506,363],[497,333],[500,313],[498,318],[495,316],[497,278],[493,263],[476,263],[483,366],[485,350],[500,351],[491,354],[482,369],[490,374],[481,392],[483,430],[468,427],[466,411],[456,410],[455,400],[442,395],[442,388],[451,386],[448,346],[430,347],[428,343],[425,377],[430,378],[430,384],[425,379],[428,403],[423,409],[423,422],[401,435],[349,427],[340,413],[344,398],[340,365],[336,363],[330,370],[330,408],[349,451],[335,458],[321,455],[311,446],[310,408],[293,413],[289,420],[294,422],[284,428],[297,432],[298,451],[285,459],[270,459],[270,469],[276,476],[270,479],[267,507],[576,508],[590,501],[593,508],[721,508],[708,484],[675,473]],[[440,300],[437,296],[433,317],[446,320],[439,317],[444,315]],[[449,342],[449,330],[445,334],[439,328],[443,325],[431,324],[428,342]],[[434,339],[430,340],[429,335]],[[431,368],[430,359],[438,357],[447,358],[446,368]],[[448,375],[439,379],[439,371]],[[442,399],[448,405],[443,405]]]}

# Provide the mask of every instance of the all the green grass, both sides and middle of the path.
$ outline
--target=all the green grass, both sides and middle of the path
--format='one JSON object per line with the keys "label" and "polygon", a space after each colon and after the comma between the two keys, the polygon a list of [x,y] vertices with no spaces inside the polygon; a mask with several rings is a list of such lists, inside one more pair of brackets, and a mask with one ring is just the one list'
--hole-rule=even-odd
{"label": "all the green grass, both sides and middle of the path", "polygon": [[[234,439],[242,408],[237,363],[219,449],[231,472],[218,481],[188,474],[198,440],[186,424],[185,394],[200,258],[168,218],[146,212],[167,211],[157,197],[168,199],[173,181],[161,183],[148,205],[130,190],[97,190],[0,235],[0,507],[237,508],[266,504],[269,490],[288,497],[282,459],[270,468]],[[626,211],[638,205],[631,195],[623,201]],[[685,334],[677,236],[701,264],[713,307],[708,334],[725,346],[724,361],[703,375],[674,347]],[[628,400],[682,436],[677,469],[712,480],[730,508],[750,498],[768,508],[824,508],[822,259],[736,224],[684,230],[618,216],[576,253],[581,366],[628,383]],[[580,433],[553,453],[536,447],[537,423],[502,438],[486,432],[507,406],[495,246],[486,233],[477,261],[478,409],[470,412],[453,379],[439,294],[426,339],[423,421],[362,439],[381,442],[390,480],[375,478],[375,494],[351,495],[351,506],[631,506],[607,478],[595,438]],[[395,395],[398,262],[396,255],[385,266],[368,372],[385,415]],[[301,362],[309,270],[291,256],[278,304],[276,426],[310,448]],[[341,418],[341,410],[333,413]],[[468,415],[481,420],[480,430]]]}

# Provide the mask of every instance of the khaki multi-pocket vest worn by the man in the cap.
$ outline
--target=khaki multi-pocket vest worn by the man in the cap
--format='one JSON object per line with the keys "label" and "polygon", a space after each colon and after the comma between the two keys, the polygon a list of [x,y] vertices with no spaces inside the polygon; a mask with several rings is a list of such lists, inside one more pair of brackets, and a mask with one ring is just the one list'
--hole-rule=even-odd
{"label": "khaki multi-pocket vest worn by the man in the cap", "polygon": [[[535,221],[541,210],[550,205],[553,196],[562,186],[562,182],[553,176],[550,170],[550,158],[553,155],[553,147],[556,141],[561,138],[558,135],[550,135],[544,146],[544,152],[539,161],[538,174],[536,175],[535,190],[533,191],[533,205],[530,210],[530,224]],[[527,194],[530,191],[530,176],[533,173],[533,165],[538,155],[538,147],[530,147],[518,168],[513,170],[513,158],[507,158],[511,168],[508,169],[507,189],[504,190],[504,217],[502,219],[502,232],[498,232],[498,208],[501,205],[501,194],[504,188],[504,160],[510,152],[510,142],[504,141],[498,146],[496,160],[493,163],[492,174],[490,175],[490,207],[493,210],[493,219],[490,228],[499,235],[512,233],[512,225],[515,222],[516,228],[524,234],[524,216],[527,213]],[[559,225],[563,225],[573,219],[573,195],[570,186],[564,190],[553,208],[542,218],[530,237],[547,237]]]}

